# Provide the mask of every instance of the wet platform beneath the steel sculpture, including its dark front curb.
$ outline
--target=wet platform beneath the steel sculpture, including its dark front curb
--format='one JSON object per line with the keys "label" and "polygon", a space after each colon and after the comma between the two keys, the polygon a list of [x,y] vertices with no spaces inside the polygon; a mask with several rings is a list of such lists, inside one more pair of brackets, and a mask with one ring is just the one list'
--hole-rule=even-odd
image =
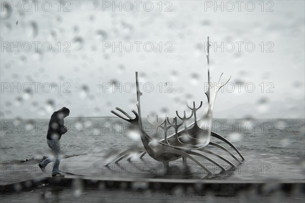
{"label": "wet platform beneath the steel sculpture, including its dark front curb", "polygon": [[[281,155],[244,154],[246,160],[236,168],[229,168],[213,176],[206,176],[202,168],[188,162],[190,168],[181,168],[181,160],[170,164],[169,169],[144,156],[131,161],[105,167],[105,154],[82,155],[60,162],[60,171],[66,178],[51,178],[52,165],[41,172],[38,162],[1,164],[1,191],[22,191],[42,184],[66,186],[81,184],[87,188],[124,188],[140,190],[172,190],[175,187],[238,193],[244,189],[268,194],[278,190],[284,193],[304,191],[304,168],[299,159]],[[201,160],[204,164],[209,164]],[[211,168],[215,166],[209,165]],[[224,165],[225,166],[225,165]],[[217,170],[217,168],[215,169]],[[73,174],[73,175],[71,175]]]}

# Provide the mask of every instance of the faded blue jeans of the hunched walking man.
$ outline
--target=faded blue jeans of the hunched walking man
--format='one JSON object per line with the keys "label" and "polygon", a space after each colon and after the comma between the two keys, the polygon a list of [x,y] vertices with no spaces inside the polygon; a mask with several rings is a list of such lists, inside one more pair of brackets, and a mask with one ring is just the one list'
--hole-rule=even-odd
{"label": "faded blue jeans of the hunched walking man", "polygon": [[[51,148],[54,158],[55,158],[54,164],[53,164],[53,170],[52,170],[52,175],[55,175],[55,174],[58,174],[58,167],[59,167],[59,163],[60,163],[60,154],[62,153],[62,151],[60,150],[60,143],[59,143],[59,140],[48,140],[47,139],[47,144],[48,144],[49,148]],[[46,167],[46,165],[48,165],[48,163],[50,163],[51,161],[53,161],[53,157],[49,156],[44,161],[42,161],[40,163],[40,165],[42,167]]]}

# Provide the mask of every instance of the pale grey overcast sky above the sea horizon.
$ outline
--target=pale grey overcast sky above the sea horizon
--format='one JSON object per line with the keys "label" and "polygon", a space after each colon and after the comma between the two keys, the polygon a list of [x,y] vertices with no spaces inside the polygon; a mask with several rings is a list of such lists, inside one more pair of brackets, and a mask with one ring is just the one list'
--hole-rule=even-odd
{"label": "pale grey overcast sky above the sea horizon", "polygon": [[142,115],[206,106],[208,36],[211,82],[231,76],[215,117],[304,118],[304,1],[4,2],[1,118],[130,112],[136,71]]}

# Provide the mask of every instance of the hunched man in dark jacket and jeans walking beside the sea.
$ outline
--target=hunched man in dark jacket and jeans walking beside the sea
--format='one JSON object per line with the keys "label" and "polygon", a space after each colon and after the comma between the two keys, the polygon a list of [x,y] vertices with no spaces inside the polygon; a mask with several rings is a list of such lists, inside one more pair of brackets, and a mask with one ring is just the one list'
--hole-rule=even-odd
{"label": "hunched man in dark jacket and jeans walking beside the sea", "polygon": [[[60,153],[61,153],[59,140],[60,138],[62,138],[62,135],[68,131],[67,127],[64,125],[64,118],[69,116],[69,114],[70,114],[70,110],[66,107],[63,107],[62,109],[59,109],[58,111],[55,111],[52,114],[49,122],[49,128],[47,133],[47,144],[49,148],[51,148],[55,158],[53,164],[53,170],[52,170],[52,177],[61,177],[61,178],[65,177],[63,174],[60,174],[58,171],[58,167],[60,163]],[[38,166],[44,172],[46,165],[50,163],[52,160],[53,157],[49,156],[44,161],[40,162]]]}

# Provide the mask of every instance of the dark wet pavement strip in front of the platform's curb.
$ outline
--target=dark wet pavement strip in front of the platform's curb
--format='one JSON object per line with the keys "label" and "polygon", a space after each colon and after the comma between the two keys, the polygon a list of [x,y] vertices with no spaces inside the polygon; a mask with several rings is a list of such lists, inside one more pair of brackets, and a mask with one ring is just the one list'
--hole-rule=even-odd
{"label": "dark wet pavement strip in front of the platform's curb", "polygon": [[176,187],[169,191],[85,188],[80,184],[71,187],[41,186],[21,192],[1,193],[1,202],[304,202],[304,193],[269,195],[256,194],[253,190],[239,193],[194,192],[192,188]]}

